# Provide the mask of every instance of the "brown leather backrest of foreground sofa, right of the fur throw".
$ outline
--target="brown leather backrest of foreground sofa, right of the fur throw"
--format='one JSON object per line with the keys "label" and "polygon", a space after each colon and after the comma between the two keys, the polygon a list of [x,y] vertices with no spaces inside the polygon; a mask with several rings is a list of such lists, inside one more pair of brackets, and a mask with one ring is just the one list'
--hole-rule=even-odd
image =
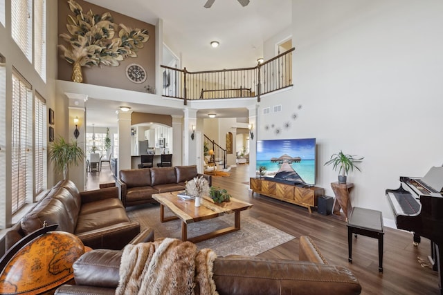
{"label": "brown leather backrest of foreground sofa, right of the fur throw", "polygon": [[219,257],[213,278],[219,295],[360,294],[361,285],[345,267],[253,256]]}

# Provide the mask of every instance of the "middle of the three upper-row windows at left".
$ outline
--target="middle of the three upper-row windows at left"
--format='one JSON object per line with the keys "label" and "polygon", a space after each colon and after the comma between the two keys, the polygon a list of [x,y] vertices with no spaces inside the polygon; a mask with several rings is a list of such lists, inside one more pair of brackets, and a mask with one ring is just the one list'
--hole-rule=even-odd
{"label": "middle of the three upper-row windows at left", "polygon": [[11,35],[29,61],[33,53],[33,1],[11,1]]}

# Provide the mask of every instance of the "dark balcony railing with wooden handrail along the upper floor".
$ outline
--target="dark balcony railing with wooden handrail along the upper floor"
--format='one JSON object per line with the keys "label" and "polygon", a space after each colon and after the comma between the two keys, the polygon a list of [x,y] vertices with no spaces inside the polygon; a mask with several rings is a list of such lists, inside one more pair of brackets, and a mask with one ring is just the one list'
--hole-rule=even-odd
{"label": "dark balcony railing with wooden handrail along the upper floor", "polygon": [[163,68],[165,97],[188,100],[257,97],[292,86],[292,52],[287,50],[254,68],[189,72],[169,66]]}

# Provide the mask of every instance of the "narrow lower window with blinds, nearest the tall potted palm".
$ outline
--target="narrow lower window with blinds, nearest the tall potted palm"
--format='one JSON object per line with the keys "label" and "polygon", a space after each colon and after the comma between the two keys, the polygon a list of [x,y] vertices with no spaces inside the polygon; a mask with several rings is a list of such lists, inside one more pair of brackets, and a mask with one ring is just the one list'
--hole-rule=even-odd
{"label": "narrow lower window with blinds, nearest the tall potted palm", "polygon": [[34,193],[37,196],[46,189],[46,101],[39,94],[35,97],[34,108]]}

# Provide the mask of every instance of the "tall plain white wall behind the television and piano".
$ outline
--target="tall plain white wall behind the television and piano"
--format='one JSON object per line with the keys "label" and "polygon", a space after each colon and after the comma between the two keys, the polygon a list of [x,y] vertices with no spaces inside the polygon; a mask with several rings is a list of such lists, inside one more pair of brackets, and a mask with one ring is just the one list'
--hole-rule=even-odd
{"label": "tall plain white wall behind the television and piano", "polygon": [[329,196],[338,173],[323,163],[341,149],[364,156],[348,175],[352,204],[392,221],[385,189],[443,163],[442,13],[440,0],[293,0],[294,87],[262,97],[259,138],[316,137]]}

